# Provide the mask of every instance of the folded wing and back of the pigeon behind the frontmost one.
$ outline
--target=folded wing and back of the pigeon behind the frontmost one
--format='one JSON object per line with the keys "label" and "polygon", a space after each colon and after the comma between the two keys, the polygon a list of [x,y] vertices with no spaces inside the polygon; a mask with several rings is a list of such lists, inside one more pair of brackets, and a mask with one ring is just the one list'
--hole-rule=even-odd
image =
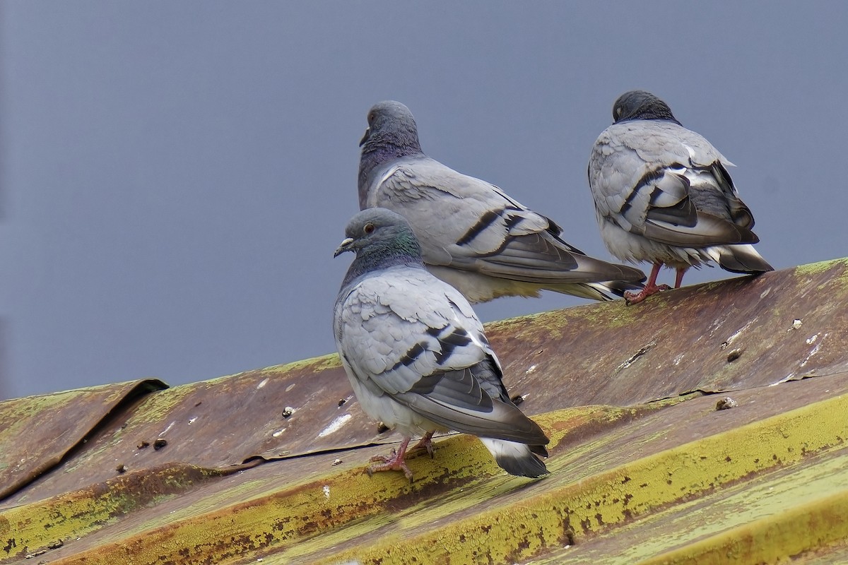
{"label": "folded wing and back of the pigeon behind the frontmost one", "polygon": [[366,205],[408,219],[427,264],[548,285],[644,279],[639,269],[586,256],[550,219],[432,158],[397,159],[371,182]]}

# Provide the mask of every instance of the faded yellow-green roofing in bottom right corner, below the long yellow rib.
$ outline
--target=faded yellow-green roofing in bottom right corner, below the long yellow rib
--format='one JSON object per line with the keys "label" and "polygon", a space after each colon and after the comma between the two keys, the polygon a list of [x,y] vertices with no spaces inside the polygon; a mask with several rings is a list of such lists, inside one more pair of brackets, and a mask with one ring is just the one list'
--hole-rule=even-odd
{"label": "faded yellow-green roofing in bottom right corner, below the long yellow rib", "polygon": [[[848,518],[848,513],[840,512],[848,492],[846,451],[809,454],[795,465],[757,474],[600,531],[577,546],[533,560],[533,565],[700,563],[709,562],[709,557],[721,563],[728,560],[728,543],[741,540],[746,540],[748,551],[738,553],[735,562],[740,563],[773,562],[763,557],[767,551],[785,557],[799,553],[798,546],[827,550],[839,543]],[[809,525],[807,517],[827,515],[831,519],[814,528],[805,527]],[[749,526],[756,531],[781,522],[794,526],[766,546],[761,546],[760,537],[750,535]],[[717,556],[704,555],[708,551]]]}

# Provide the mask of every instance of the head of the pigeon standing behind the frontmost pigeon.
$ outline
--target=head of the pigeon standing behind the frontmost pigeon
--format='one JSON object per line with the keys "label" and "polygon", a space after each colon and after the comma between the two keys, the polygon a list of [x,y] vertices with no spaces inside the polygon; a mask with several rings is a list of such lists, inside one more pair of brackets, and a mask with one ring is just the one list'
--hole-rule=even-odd
{"label": "head of the pigeon standing behind the frontmost pigeon", "polygon": [[421,152],[418,126],[410,108],[400,102],[377,102],[368,110],[368,129],[360,140],[363,153],[380,148],[393,149],[394,157]]}

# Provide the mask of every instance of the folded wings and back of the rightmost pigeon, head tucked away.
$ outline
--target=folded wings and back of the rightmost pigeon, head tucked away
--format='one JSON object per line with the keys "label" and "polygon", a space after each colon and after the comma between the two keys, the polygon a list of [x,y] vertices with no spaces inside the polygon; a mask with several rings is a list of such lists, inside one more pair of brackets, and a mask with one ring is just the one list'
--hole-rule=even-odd
{"label": "folded wings and back of the rightmost pigeon, head tucked away", "polygon": [[676,246],[754,243],[753,217],[709,141],[667,122],[611,125],[589,158],[601,217]]}

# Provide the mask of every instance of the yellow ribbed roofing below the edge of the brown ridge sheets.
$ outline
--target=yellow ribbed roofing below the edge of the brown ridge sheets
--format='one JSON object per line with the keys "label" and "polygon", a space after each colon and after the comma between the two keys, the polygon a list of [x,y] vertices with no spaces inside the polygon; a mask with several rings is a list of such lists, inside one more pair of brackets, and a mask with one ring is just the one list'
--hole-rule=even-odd
{"label": "yellow ribbed roofing below the edge of the brown ridge sheets", "polygon": [[[260,558],[388,565],[410,562],[410,556],[419,565],[548,562],[562,557],[566,545],[578,548],[566,557],[582,558],[586,548],[594,562],[615,562],[620,532],[635,530],[631,539],[639,539],[639,531],[663,532],[629,548],[650,547],[654,553],[639,554],[648,557],[674,550],[686,535],[732,529],[726,516],[704,518],[700,529],[684,519],[713,504],[745,507],[752,522],[770,516],[779,522],[781,512],[810,501],[803,488],[828,484],[836,490],[817,496],[839,498],[844,481],[834,478],[842,476],[840,462],[848,461],[848,421],[842,417],[848,374],[733,396],[738,407],[722,411],[717,396],[700,396],[544,414],[538,421],[552,439],[552,474],[538,481],[502,473],[477,440],[456,435],[438,440],[434,459],[410,461],[412,485],[399,474],[365,475],[369,457],[385,446],[276,461],[227,476],[156,468],[0,511],[0,540],[15,540],[14,556],[43,550],[51,563],[64,565]],[[785,507],[780,499],[763,505],[770,488],[789,492],[793,486],[801,490],[791,491],[792,504],[787,498]],[[693,507],[699,500],[701,510]],[[804,516],[822,509],[810,510]],[[812,533],[828,540],[845,519]],[[486,528],[493,533],[483,534]],[[595,544],[599,538],[609,543]],[[468,558],[472,553],[477,560]]]}

